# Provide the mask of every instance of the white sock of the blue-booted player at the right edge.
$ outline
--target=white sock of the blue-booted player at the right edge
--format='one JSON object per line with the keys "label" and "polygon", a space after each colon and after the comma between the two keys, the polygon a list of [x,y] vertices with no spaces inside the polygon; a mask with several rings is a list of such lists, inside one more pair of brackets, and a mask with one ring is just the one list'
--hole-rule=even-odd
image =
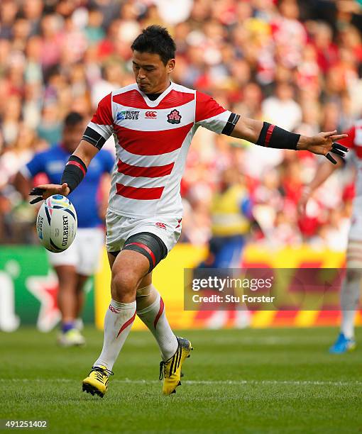
{"label": "white sock of the blue-booted player at the right edge", "polygon": [[347,339],[351,339],[354,336],[354,318],[356,317],[356,309],[358,307],[360,286],[360,279],[344,279],[341,287],[341,332]]}

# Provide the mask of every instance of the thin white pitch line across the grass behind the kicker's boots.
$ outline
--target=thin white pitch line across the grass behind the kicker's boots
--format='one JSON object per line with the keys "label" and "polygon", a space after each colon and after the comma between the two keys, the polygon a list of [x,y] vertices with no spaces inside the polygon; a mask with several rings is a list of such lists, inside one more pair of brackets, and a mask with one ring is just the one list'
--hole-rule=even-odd
{"label": "thin white pitch line across the grass behind the kicker's boots", "polygon": [[[56,383],[75,383],[77,380],[67,379],[67,378],[36,378],[36,379],[28,379],[28,378],[13,378],[13,379],[2,379],[0,378],[1,383],[5,382],[37,382],[37,383],[45,383],[45,382],[56,382]],[[132,380],[132,379],[112,379],[112,383],[124,383],[124,384],[159,384],[159,380]],[[319,381],[309,381],[309,380],[300,380],[300,381],[294,381],[294,380],[182,380],[182,383],[185,382],[185,384],[191,384],[191,385],[199,385],[199,384],[205,384],[205,385],[214,385],[214,384],[221,384],[221,385],[235,385],[235,386],[243,386],[246,384],[256,384],[256,385],[275,385],[278,384],[283,385],[292,385],[292,386],[362,386],[361,381],[351,381],[351,382],[319,382]]]}

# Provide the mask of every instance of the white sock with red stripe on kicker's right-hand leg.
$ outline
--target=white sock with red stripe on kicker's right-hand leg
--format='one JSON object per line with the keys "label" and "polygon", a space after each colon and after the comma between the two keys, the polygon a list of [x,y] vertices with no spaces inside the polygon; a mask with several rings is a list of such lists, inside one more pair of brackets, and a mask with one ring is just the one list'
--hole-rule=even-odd
{"label": "white sock with red stripe on kicker's right-hand leg", "polygon": [[150,332],[155,336],[160,347],[163,360],[168,360],[177,351],[178,342],[177,338],[172,333],[168,319],[166,318],[165,305],[163,299],[155,287],[152,291],[156,291],[156,299],[150,306],[137,311],[137,315],[141,318],[143,323],[147,325]]}

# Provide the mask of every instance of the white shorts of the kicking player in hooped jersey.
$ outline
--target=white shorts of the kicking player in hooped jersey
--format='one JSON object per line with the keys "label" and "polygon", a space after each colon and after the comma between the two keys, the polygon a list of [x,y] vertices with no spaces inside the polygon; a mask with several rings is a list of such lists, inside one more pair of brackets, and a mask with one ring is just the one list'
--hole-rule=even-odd
{"label": "white shorts of the kicking player in hooped jersey", "polygon": [[157,235],[168,249],[175,246],[181,235],[181,217],[155,216],[146,218],[131,218],[119,216],[108,210],[106,213],[106,250],[119,252],[131,235],[149,232]]}

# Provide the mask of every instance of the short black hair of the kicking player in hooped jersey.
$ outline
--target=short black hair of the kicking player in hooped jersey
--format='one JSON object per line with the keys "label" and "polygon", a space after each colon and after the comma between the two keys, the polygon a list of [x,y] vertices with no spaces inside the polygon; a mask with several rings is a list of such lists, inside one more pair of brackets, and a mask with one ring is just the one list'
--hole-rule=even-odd
{"label": "short black hair of the kicking player in hooped jersey", "polygon": [[158,54],[163,64],[167,65],[167,62],[175,57],[176,44],[167,28],[148,26],[142,30],[141,35],[133,40],[131,50]]}

